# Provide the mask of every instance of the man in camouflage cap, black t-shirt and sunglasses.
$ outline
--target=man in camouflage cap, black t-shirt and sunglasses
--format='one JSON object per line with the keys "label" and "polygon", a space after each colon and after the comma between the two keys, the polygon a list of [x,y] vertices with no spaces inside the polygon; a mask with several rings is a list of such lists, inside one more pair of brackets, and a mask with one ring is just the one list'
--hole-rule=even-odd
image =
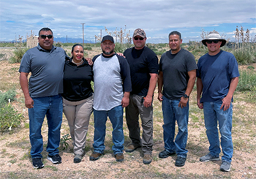
{"label": "man in camouflage cap, black t-shirt and sunglasses", "polygon": [[[153,147],[153,94],[157,85],[158,58],[156,53],[145,46],[146,33],[137,28],[132,36],[135,47],[124,51],[132,78],[132,92],[126,107],[129,137],[132,140],[126,152],[142,147],[143,164],[150,164]],[[143,128],[140,139],[139,115]]]}

